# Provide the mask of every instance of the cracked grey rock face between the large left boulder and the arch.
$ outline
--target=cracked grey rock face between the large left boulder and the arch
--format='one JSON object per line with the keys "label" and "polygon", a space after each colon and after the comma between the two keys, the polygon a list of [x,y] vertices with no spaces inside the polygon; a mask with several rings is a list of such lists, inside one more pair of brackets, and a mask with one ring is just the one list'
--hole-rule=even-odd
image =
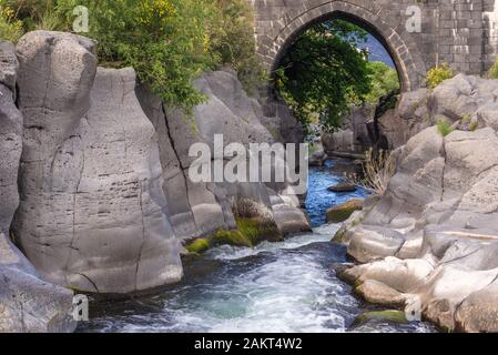
{"label": "cracked grey rock face between the large left boulder and the arch", "polygon": [[[274,143],[275,138],[263,125],[263,109],[247,97],[236,73],[222,70],[204,73],[195,87],[207,100],[194,108],[192,115],[172,108],[164,108],[161,100],[145,87],[138,88],[138,97],[144,112],[159,133],[163,191],[169,215],[176,235],[189,242],[209,236],[218,230],[236,229],[236,217],[260,219],[271,223],[275,232],[285,234],[309,230],[309,223],[301,210],[297,197],[286,194],[288,185],[266,186],[262,182],[193,182],[191,168],[196,156],[190,156],[190,148],[204,143],[213,152],[214,136],[223,136],[225,149],[231,143]],[[281,136],[282,138],[282,136]],[[230,163],[223,156],[212,156],[223,169]]]}

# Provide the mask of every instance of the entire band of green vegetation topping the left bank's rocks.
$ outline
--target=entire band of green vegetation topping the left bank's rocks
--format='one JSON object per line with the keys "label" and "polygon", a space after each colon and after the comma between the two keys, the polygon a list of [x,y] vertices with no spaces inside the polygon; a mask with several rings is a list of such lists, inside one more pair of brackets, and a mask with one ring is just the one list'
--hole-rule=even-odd
{"label": "entire band of green vegetation topping the left bank's rocks", "polygon": [[[102,65],[131,65],[170,105],[190,110],[204,100],[192,82],[231,65],[247,89],[264,79],[255,54],[252,8],[245,0],[0,0],[24,31],[71,31],[73,9],[89,9]],[[0,20],[1,28],[1,20]]]}

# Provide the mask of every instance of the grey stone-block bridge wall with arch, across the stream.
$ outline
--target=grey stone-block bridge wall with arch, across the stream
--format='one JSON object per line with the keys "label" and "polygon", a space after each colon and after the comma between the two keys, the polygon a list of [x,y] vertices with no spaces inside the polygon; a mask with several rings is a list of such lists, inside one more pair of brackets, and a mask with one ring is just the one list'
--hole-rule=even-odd
{"label": "grey stone-block bridge wall with arch, across the stream", "polygon": [[[309,26],[333,18],[368,30],[396,63],[404,91],[419,88],[428,69],[482,74],[498,53],[498,0],[247,0],[255,10],[257,52],[271,72]],[[420,31],[407,21],[418,7]]]}

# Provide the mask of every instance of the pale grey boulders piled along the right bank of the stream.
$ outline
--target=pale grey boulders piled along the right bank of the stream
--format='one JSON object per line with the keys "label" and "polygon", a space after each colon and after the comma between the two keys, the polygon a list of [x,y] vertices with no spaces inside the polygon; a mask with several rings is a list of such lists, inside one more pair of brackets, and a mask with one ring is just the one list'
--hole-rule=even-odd
{"label": "pale grey boulders piled along the right bank of the stream", "polygon": [[[426,128],[396,150],[386,194],[342,231],[348,253],[365,263],[345,278],[368,282],[366,300],[385,301],[389,290],[418,300],[443,328],[497,329],[498,134],[478,119],[496,101],[494,88],[498,81],[458,75],[435,89],[427,105],[455,130],[443,136]],[[469,116],[479,124],[466,125]]]}

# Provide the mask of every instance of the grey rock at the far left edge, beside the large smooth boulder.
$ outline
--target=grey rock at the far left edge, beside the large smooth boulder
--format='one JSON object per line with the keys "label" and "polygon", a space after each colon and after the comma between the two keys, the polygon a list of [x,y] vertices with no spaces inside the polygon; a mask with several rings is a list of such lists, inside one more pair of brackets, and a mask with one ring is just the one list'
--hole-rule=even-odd
{"label": "grey rock at the far left edge, beside the large smooth boulder", "polygon": [[23,119],[14,104],[18,69],[14,47],[0,42],[0,333],[72,332],[72,292],[43,281],[7,236],[19,205]]}

